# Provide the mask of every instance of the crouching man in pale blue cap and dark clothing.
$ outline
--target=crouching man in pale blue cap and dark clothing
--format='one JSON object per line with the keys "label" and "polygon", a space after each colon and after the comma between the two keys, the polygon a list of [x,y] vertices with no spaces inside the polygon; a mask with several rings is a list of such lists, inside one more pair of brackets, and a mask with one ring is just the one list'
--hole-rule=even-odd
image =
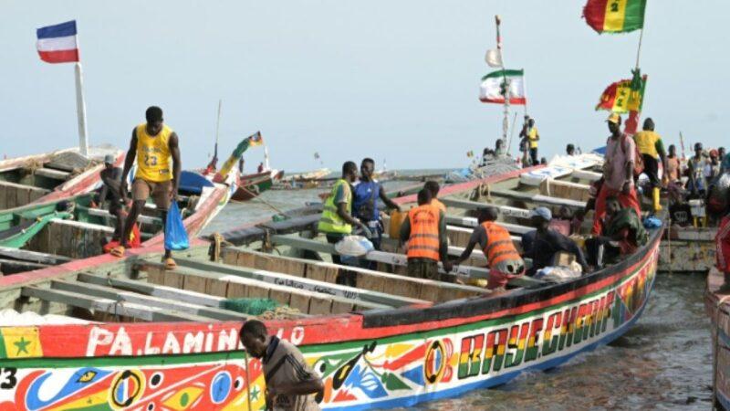
{"label": "crouching man in pale blue cap and dark clothing", "polygon": [[537,229],[532,245],[525,257],[532,258],[532,267],[527,270],[528,276],[534,276],[537,270],[553,265],[553,259],[558,251],[565,251],[576,256],[583,272],[588,272],[588,263],[583,257],[583,251],[568,237],[552,230],[549,227],[552,213],[546,207],[537,207],[530,212],[530,222]]}

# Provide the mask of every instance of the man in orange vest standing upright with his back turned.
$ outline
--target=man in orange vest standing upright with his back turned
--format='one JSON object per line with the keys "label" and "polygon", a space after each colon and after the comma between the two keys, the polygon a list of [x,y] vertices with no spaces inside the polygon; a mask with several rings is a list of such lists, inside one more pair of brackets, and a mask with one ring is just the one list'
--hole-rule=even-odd
{"label": "man in orange vest standing upright with his back turned", "polygon": [[443,269],[451,271],[447,258],[446,219],[443,211],[431,204],[431,192],[418,192],[418,206],[408,212],[401,226],[401,243],[408,242],[408,276],[421,279],[439,278],[439,260]]}

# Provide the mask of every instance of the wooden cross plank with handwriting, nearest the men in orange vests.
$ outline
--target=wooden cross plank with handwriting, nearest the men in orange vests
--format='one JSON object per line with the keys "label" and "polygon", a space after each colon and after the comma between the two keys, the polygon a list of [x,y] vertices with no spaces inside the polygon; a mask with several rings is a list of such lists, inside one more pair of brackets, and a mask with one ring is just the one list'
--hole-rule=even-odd
{"label": "wooden cross plank with handwriting, nearest the men in orange vests", "polygon": [[229,265],[285,272],[297,277],[306,277],[330,283],[335,281],[340,270],[348,270],[354,273],[359,289],[388,292],[420,300],[455,300],[489,293],[488,290],[478,287],[435,281],[433,279],[415,279],[325,261],[277,256],[244,248],[224,248],[223,261]]}

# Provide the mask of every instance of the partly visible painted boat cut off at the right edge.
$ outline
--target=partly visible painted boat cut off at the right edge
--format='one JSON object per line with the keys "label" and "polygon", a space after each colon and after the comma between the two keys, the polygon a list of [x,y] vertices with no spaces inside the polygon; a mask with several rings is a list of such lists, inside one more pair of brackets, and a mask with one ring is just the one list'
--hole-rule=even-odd
{"label": "partly visible painted boat cut off at the right edge", "polygon": [[730,290],[723,287],[725,276],[710,269],[704,306],[712,322],[713,409],[730,409]]}

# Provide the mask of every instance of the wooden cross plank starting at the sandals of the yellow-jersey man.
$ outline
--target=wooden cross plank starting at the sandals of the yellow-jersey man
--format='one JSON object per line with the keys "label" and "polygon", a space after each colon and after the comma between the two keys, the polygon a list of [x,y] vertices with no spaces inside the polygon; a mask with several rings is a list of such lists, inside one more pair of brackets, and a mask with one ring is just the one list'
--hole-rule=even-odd
{"label": "wooden cross plank starting at the sandals of the yellow-jersey man", "polygon": [[[178,262],[180,262],[179,259]],[[250,279],[215,270],[188,267],[166,270],[164,265],[152,262],[138,263],[135,268],[146,271],[149,276],[148,281],[153,284],[204,292],[227,299],[271,299],[309,315],[340,314],[390,307],[385,304],[355,300],[313,290],[302,290],[284,283]]]}

